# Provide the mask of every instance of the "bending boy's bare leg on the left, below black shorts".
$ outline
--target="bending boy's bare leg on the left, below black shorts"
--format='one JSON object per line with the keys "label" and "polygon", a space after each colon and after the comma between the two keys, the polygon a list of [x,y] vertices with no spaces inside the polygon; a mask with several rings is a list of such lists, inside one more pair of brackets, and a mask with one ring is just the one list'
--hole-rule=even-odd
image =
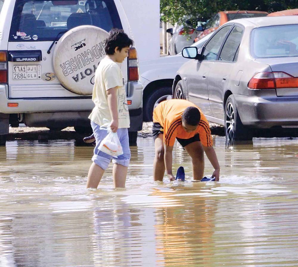
{"label": "bending boy's bare leg on the left, below black shorts", "polygon": [[153,162],[153,179],[154,181],[162,181],[164,178],[164,140],[163,134],[159,134],[155,139],[155,157]]}

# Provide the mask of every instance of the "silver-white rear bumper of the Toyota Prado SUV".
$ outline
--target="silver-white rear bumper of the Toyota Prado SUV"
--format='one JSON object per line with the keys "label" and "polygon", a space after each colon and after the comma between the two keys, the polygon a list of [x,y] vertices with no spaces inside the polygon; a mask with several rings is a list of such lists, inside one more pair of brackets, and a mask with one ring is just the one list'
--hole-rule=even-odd
{"label": "silver-white rear bumper of the Toyota Prado SUV", "polygon": [[[143,86],[140,82],[128,83],[127,100],[131,100],[129,108],[130,132],[139,131],[143,124]],[[17,107],[8,107],[9,103],[18,103]],[[25,122],[30,127],[88,126],[94,103],[89,98],[36,98],[8,99],[7,85],[0,85],[0,115],[25,113]],[[27,114],[27,115],[26,115]],[[9,116],[1,119],[3,132],[8,133]],[[5,129],[4,129],[5,128]]]}

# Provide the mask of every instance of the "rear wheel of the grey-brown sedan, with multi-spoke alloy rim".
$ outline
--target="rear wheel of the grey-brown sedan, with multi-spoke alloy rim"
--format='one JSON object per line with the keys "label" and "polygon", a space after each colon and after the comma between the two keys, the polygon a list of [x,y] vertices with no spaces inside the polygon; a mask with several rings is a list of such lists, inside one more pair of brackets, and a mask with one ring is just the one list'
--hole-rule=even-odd
{"label": "rear wheel of the grey-brown sedan, with multi-spoke alloy rim", "polygon": [[224,130],[227,140],[252,140],[252,130],[242,124],[233,95],[226,101]]}

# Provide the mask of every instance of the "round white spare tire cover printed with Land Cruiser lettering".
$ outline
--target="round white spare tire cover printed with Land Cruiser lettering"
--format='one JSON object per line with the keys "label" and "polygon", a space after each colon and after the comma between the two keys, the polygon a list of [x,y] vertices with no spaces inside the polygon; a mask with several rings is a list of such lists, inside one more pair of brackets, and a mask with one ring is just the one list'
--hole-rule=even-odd
{"label": "round white spare tire cover printed with Land Cruiser lettering", "polygon": [[64,88],[79,95],[92,94],[94,74],[105,56],[107,37],[105,30],[83,25],[59,39],[53,53],[53,66]]}

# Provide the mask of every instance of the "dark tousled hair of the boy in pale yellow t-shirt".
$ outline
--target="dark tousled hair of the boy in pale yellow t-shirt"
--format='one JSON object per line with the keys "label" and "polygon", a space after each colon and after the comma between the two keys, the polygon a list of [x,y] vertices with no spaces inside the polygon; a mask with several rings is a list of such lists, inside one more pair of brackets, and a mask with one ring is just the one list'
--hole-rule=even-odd
{"label": "dark tousled hair of the boy in pale yellow t-shirt", "polygon": [[130,47],[133,45],[131,40],[123,30],[111,29],[109,36],[105,39],[105,53],[107,55],[114,55],[115,48],[118,46],[118,51],[121,51],[124,47]]}

